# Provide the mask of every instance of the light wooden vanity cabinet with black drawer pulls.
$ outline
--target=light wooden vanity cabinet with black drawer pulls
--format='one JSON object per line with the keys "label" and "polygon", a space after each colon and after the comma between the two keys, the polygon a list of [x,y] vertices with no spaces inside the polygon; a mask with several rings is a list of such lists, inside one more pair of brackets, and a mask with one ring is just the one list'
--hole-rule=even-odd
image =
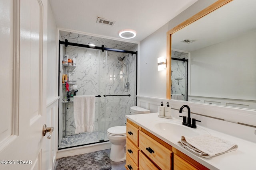
{"label": "light wooden vanity cabinet with black drawer pulls", "polygon": [[127,170],[209,170],[129,119],[126,135]]}

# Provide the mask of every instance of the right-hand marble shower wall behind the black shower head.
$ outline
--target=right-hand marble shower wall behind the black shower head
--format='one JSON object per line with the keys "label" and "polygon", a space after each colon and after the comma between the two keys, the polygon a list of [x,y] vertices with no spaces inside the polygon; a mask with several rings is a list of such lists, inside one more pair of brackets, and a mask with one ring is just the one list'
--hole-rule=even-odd
{"label": "right-hand marble shower wall behind the black shower head", "polygon": [[[125,57],[124,63],[118,61],[117,57]],[[106,89],[106,95],[128,95],[131,96],[108,96],[105,100],[105,127],[101,127],[100,131],[113,126],[125,125],[125,115],[129,114],[131,106],[135,106],[136,102],[136,55],[107,52],[106,68],[101,74],[106,78],[106,85],[102,82],[102,89]],[[130,83],[128,92],[124,91],[126,82]],[[103,108],[103,107],[102,107]]]}

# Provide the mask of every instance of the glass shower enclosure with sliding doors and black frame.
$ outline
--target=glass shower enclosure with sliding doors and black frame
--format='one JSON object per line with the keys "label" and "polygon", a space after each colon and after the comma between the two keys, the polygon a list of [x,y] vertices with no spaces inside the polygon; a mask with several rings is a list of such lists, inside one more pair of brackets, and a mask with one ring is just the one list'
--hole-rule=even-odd
{"label": "glass shower enclosure with sliding doors and black frame", "polygon": [[[107,129],[125,125],[125,115],[131,106],[136,106],[137,55],[72,45],[59,47],[60,78],[68,75],[68,80],[60,80],[58,148],[108,141]],[[75,60],[76,65],[62,64],[64,55]],[[96,96],[93,132],[75,133],[75,95]]]}

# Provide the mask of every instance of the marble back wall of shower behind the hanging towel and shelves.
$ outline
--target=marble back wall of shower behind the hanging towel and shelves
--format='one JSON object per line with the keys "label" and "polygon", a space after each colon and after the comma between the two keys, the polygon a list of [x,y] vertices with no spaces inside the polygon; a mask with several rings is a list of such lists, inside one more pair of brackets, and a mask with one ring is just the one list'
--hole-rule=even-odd
{"label": "marble back wall of shower behind the hanging towel and shelves", "polygon": [[[95,95],[97,96],[99,91],[99,52],[98,50],[91,50],[79,47],[66,47],[66,54],[69,57],[76,58],[77,66],[67,67],[67,73],[70,73],[70,80],[77,80],[78,86],[77,96],[83,95]],[[72,85],[70,85],[72,86]],[[99,112],[99,98],[96,98],[95,104],[95,130],[98,131],[98,112]],[[66,135],[74,135],[75,122],[74,122],[74,104],[68,102],[67,104],[67,120],[66,120]],[[65,114],[65,113],[64,113]],[[63,115],[63,125],[65,125],[65,115]],[[63,131],[65,129],[63,128]],[[63,132],[64,133],[64,132]]]}

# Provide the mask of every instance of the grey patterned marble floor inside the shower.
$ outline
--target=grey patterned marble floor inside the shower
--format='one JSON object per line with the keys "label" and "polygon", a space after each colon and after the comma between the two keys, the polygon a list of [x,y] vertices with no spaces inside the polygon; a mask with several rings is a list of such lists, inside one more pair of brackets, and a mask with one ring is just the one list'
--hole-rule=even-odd
{"label": "grey patterned marble floor inside the shower", "polygon": [[[74,147],[77,145],[96,143],[96,142],[99,142],[100,139],[102,139],[102,138],[99,138],[99,135],[100,137],[106,136],[104,133],[105,133],[104,131],[92,132],[92,133],[85,132],[85,133],[79,133],[79,134],[63,137],[59,148]],[[108,140],[108,139],[105,139],[105,140]]]}

